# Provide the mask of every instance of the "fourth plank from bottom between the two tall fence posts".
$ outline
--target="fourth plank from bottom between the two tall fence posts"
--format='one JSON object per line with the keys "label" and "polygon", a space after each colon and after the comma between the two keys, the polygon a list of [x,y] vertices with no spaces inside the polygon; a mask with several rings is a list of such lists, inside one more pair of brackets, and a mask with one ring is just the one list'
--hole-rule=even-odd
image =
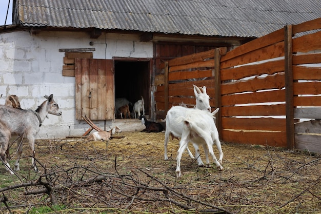
{"label": "fourth plank from bottom between the two tall fence posts", "polygon": [[222,96],[222,106],[249,103],[284,102],[285,90],[260,91]]}

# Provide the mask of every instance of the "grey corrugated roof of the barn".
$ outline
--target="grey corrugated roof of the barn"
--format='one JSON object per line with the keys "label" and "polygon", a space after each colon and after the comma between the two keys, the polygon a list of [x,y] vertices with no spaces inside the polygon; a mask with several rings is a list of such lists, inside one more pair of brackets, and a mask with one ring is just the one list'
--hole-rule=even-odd
{"label": "grey corrugated roof of the barn", "polygon": [[321,17],[320,0],[16,0],[23,26],[260,37]]}

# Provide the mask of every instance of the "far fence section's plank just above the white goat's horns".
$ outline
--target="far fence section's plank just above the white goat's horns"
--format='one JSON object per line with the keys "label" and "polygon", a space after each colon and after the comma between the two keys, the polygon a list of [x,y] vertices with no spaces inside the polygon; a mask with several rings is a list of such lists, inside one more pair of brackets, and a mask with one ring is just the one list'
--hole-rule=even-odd
{"label": "far fence section's plank just above the white goat's horns", "polygon": [[168,80],[188,80],[209,77],[213,75],[213,70],[178,71],[168,74]]}

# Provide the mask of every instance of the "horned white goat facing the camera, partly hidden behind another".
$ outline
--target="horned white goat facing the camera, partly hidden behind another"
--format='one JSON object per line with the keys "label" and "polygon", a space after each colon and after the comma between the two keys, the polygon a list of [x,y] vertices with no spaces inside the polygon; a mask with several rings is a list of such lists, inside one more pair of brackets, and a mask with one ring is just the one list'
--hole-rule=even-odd
{"label": "horned white goat facing the camera, partly hidden behind another", "polygon": [[[206,93],[206,86],[197,87],[193,85],[193,90],[194,94],[196,97],[196,109],[200,110],[207,110],[211,111],[211,106],[210,106],[210,96]],[[201,91],[202,90],[202,91]],[[183,123],[180,123],[178,118],[181,116],[186,116],[186,109],[185,107],[182,106],[173,106],[166,115],[166,130],[165,130],[165,141],[164,141],[164,160],[168,160],[167,156],[167,144],[169,140],[169,135],[171,134],[172,139],[173,138],[180,138],[182,137],[182,132],[183,132]],[[194,159],[193,154],[189,150],[188,147],[186,147],[188,154],[192,159]],[[204,163],[202,162],[202,159],[199,157],[199,149],[197,145],[194,145],[195,149],[195,156],[197,158],[197,163],[198,166],[204,166]]]}

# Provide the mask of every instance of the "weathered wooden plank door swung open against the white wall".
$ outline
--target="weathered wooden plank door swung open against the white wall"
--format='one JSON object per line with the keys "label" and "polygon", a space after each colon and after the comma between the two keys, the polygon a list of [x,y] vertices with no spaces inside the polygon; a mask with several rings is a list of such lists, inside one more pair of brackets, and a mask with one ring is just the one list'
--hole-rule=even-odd
{"label": "weathered wooden plank door swung open against the white wall", "polygon": [[76,119],[114,119],[114,66],[112,60],[75,59]]}

